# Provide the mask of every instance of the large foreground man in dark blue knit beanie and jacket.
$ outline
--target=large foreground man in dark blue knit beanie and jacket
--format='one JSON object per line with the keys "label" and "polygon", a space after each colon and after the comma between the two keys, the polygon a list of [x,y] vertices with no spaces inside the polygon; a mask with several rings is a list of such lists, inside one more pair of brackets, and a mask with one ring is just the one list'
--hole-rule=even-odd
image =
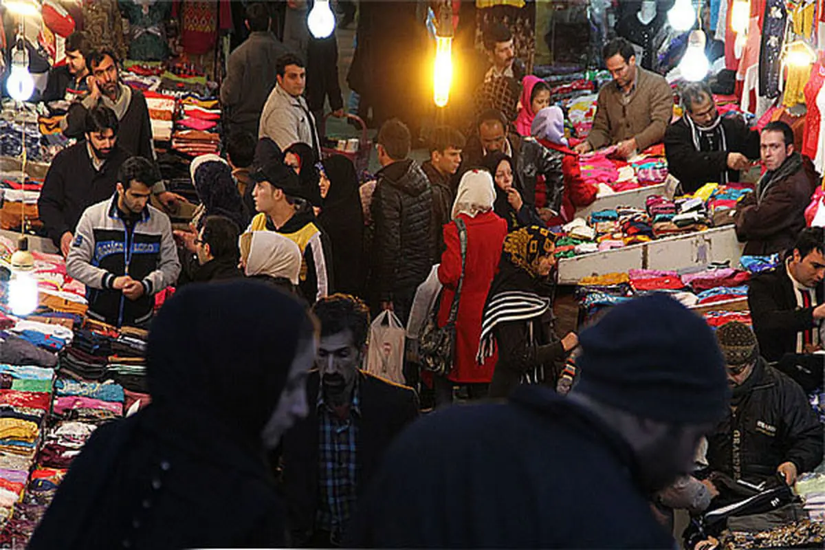
{"label": "large foreground man in dark blue knit beanie and jacket", "polygon": [[675,548],[648,499],[690,471],[703,431],[728,409],[713,333],[653,294],[582,332],[582,350],[568,397],[521,387],[509,402],[449,407],[405,430],[346,542]]}

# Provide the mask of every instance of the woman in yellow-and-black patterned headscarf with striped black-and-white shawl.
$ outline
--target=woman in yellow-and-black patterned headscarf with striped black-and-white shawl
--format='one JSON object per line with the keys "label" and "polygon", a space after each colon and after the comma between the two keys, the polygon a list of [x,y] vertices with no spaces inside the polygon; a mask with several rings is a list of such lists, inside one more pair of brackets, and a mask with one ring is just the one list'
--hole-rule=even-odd
{"label": "woman in yellow-and-black patterned headscarf with striped black-and-white shawl", "polygon": [[508,397],[519,383],[555,388],[566,355],[578,345],[574,332],[559,340],[553,331],[554,252],[554,233],[535,225],[504,240],[476,358],[481,363],[498,351],[490,397]]}

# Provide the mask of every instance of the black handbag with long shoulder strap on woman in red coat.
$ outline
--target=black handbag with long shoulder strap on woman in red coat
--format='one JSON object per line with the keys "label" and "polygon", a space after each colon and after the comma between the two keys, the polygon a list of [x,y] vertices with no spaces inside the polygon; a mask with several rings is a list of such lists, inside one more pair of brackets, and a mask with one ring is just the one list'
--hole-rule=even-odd
{"label": "black handbag with long shoulder strap on woman in red coat", "polygon": [[459,286],[455,290],[455,298],[450,305],[450,317],[444,327],[438,326],[438,310],[441,302],[441,294],[432,308],[427,323],[424,325],[421,337],[418,340],[418,356],[421,358],[425,369],[439,376],[450,374],[455,360],[455,317],[459,313],[459,301],[461,299],[461,287],[464,285],[464,265],[467,263],[467,227],[464,220],[456,218],[455,225],[459,228],[459,241],[461,243],[461,276]]}

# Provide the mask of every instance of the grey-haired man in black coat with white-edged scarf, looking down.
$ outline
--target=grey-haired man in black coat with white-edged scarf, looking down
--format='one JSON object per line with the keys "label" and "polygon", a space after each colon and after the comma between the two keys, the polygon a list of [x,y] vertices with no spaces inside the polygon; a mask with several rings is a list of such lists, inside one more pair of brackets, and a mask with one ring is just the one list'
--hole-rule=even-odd
{"label": "grey-haired man in black coat with white-edged scarf, looking down", "polygon": [[686,193],[705,183],[739,181],[759,158],[759,133],[739,116],[719,116],[710,87],[692,82],[681,91],[685,115],[665,131],[667,167]]}

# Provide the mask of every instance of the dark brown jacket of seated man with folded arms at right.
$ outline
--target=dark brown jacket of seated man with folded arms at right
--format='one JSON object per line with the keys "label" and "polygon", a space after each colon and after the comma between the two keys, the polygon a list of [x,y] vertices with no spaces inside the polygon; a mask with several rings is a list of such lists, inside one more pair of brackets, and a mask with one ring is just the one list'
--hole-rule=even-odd
{"label": "dark brown jacket of seated man with folded arms at right", "polygon": [[808,157],[793,153],[775,172],[766,172],[754,193],[745,195],[733,214],[744,253],[767,256],[794,246],[805,228],[804,211],[819,184]]}

